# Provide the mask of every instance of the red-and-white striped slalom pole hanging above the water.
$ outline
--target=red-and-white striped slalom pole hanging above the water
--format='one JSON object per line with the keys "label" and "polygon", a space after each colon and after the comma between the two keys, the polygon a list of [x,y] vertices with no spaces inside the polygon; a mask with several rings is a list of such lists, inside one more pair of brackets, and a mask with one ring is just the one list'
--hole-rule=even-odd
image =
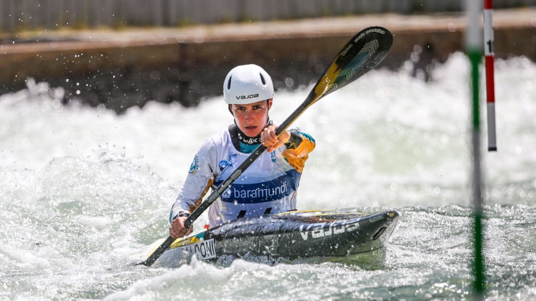
{"label": "red-and-white striped slalom pole hanging above the water", "polygon": [[486,61],[486,98],[488,113],[488,151],[497,150],[495,130],[495,46],[493,35],[493,0],[484,0],[484,56]]}

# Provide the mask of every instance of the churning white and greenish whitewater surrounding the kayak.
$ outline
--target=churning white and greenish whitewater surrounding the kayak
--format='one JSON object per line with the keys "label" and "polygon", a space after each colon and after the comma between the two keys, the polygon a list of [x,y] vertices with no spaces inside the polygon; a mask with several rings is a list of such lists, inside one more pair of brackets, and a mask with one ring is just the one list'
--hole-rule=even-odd
{"label": "churning white and greenish whitewater surrounding the kayak", "polygon": [[[47,83],[0,96],[0,300],[471,299],[468,61],[453,55],[429,83],[406,67],[371,71],[296,121],[317,141],[300,210],[400,213],[374,265],[134,267],[167,236],[170,205],[200,143],[232,122],[222,97],[118,116],[63,106],[61,87]],[[487,299],[531,300],[536,65],[498,60],[495,76],[498,152],[483,150]],[[277,91],[271,118],[285,119],[310,88]]]}

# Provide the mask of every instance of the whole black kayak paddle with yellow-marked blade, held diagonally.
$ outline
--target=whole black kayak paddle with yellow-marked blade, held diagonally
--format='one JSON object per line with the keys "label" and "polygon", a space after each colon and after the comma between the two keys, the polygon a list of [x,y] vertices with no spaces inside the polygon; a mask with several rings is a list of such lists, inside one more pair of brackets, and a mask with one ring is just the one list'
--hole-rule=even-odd
{"label": "whole black kayak paddle with yellow-marked blade, held diagonally", "polygon": [[[331,92],[346,86],[348,83],[360,78],[374,68],[389,52],[393,44],[393,36],[389,30],[373,26],[363,29],[356,34],[344,48],[333,59],[331,65],[318,80],[315,87],[307,96],[306,100],[285,120],[276,130],[279,136],[296,120],[309,106],[316,103],[318,99]],[[184,226],[189,228],[192,223],[201,215],[224,191],[232,184],[253,161],[255,161],[266,150],[266,146],[259,147],[249,155],[247,159],[236,168],[224,182],[218,186],[212,194],[201,203],[190,217],[184,222]],[[160,255],[165,252],[175,241],[169,236],[145,261],[137,265],[151,266]]]}

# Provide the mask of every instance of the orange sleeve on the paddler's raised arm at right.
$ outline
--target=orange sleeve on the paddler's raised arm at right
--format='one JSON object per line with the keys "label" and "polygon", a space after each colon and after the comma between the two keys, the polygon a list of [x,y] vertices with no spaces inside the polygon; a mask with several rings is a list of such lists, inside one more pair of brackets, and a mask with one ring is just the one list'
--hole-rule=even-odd
{"label": "orange sleeve on the paddler's raised arm at right", "polygon": [[311,135],[300,129],[293,128],[288,131],[291,133],[291,138],[285,143],[287,149],[282,152],[282,155],[297,172],[301,173],[305,161],[309,158],[309,153],[315,149],[316,143]]}

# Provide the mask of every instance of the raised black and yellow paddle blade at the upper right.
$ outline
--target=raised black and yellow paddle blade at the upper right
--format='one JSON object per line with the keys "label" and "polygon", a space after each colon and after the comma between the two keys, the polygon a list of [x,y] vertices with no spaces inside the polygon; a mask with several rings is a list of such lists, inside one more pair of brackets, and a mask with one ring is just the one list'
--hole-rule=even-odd
{"label": "raised black and yellow paddle blade at the upper right", "polygon": [[392,45],[393,35],[380,26],[368,27],[356,34],[318,80],[310,104],[374,68],[387,55]]}

